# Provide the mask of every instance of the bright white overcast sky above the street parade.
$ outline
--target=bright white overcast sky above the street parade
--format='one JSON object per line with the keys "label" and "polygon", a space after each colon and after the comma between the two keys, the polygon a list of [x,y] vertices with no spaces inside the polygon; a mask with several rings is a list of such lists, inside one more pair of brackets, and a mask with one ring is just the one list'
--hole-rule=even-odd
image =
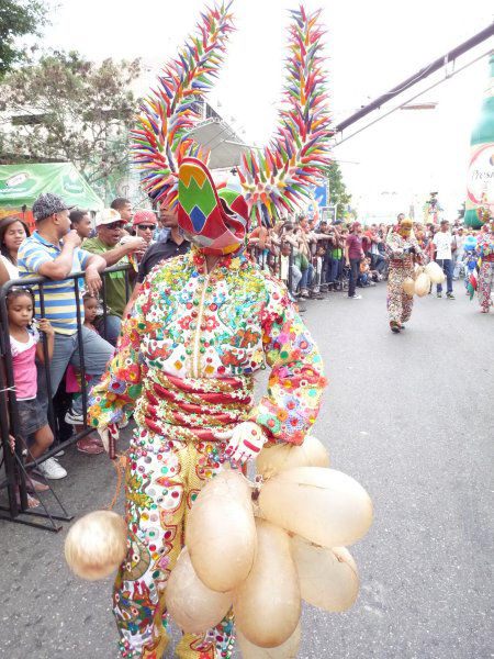
{"label": "bright white overcast sky above the street parade", "polygon": [[[75,48],[93,59],[142,57],[149,67],[176,54],[203,7],[199,0],[59,0],[59,4],[54,26],[46,33],[46,45]],[[305,5],[324,9],[335,122],[493,20],[490,0],[308,0]],[[136,11],[139,7],[141,14]],[[284,27],[288,9],[294,7],[296,3],[287,0],[233,3],[237,32],[231,37],[211,101],[249,144],[263,144],[276,126],[285,56]],[[484,42],[461,57],[457,68],[490,47],[494,43]],[[335,148],[335,158],[341,161],[362,219],[380,213],[395,216],[402,210],[406,212],[413,201],[422,206],[433,189],[439,191],[447,213],[454,213],[464,198],[470,133],[487,87],[487,72],[484,57],[420,99],[438,102],[435,110],[397,110]],[[436,74],[423,87],[441,76],[442,71]],[[408,91],[400,102],[417,91],[417,87]],[[347,134],[378,116],[369,115]]]}

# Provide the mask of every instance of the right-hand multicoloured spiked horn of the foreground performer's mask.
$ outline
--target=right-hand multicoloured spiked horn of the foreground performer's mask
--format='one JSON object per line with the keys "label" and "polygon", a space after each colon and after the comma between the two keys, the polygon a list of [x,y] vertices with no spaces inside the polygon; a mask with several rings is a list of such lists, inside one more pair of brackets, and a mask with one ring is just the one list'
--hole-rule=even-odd
{"label": "right-hand multicoloured spiked horn of the foreground performer's mask", "polygon": [[258,223],[293,212],[330,165],[328,92],[322,57],[321,10],[292,11],[287,80],[279,126],[268,147],[243,156],[238,169],[246,201]]}

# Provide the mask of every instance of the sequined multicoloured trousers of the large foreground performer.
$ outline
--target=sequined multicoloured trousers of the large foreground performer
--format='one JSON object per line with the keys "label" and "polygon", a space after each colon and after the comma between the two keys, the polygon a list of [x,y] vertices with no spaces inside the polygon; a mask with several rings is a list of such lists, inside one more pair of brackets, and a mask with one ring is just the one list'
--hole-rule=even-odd
{"label": "sequined multicoloured trousers of the large foreground performer", "polygon": [[[218,444],[170,439],[137,428],[126,470],[127,556],[116,577],[113,611],[122,657],[161,659],[168,644],[164,594],[183,546],[189,511],[222,469]],[[221,557],[218,557],[221,560]],[[233,616],[203,636],[184,634],[181,659],[223,659],[234,643]]]}

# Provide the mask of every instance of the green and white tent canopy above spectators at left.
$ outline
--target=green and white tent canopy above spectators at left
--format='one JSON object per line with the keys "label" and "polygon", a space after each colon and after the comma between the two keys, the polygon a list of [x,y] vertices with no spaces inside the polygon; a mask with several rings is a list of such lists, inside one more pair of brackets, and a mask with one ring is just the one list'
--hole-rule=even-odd
{"label": "green and white tent canopy above spectators at left", "polygon": [[42,192],[58,194],[67,205],[90,211],[104,205],[71,163],[0,165],[0,209],[31,208]]}

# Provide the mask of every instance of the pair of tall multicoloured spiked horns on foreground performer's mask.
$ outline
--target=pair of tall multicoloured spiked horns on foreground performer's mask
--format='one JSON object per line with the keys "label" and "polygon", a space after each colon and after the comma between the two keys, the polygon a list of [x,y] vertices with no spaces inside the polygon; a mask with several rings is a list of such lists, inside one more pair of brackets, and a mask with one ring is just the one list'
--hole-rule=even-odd
{"label": "pair of tall multicoloured spiked horns on foreground performer's mask", "polygon": [[[232,2],[202,13],[198,34],[169,63],[141,105],[133,131],[134,161],[154,201],[176,206],[178,169],[186,157],[206,164],[209,154],[189,136],[201,116],[198,101],[211,89],[232,32]],[[321,11],[292,11],[287,81],[279,126],[269,146],[244,154],[238,176],[255,223],[272,224],[310,199],[330,165],[329,113],[322,57]],[[255,99],[252,98],[252,101]]]}

